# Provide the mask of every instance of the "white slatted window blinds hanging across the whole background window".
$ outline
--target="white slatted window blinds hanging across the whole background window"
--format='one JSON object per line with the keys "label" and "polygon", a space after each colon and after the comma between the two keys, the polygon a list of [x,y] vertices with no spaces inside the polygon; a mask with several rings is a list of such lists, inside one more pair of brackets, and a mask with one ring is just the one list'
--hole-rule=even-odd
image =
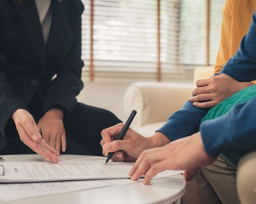
{"label": "white slatted window blinds hanging across the whole background window", "polygon": [[[83,74],[90,75],[90,21],[93,2],[94,77],[157,79],[157,0],[83,0]],[[211,1],[214,28],[219,27],[221,9]],[[221,5],[221,4],[220,4]],[[215,20],[216,15],[220,17]],[[212,31],[212,37],[218,40]],[[210,41],[212,42],[212,41]],[[219,42],[212,42],[211,55]],[[214,57],[210,57],[213,59]],[[215,60],[212,60],[215,61]],[[212,62],[211,61],[211,62]],[[164,81],[193,78],[191,67],[205,63],[205,1],[160,0],[160,62]]]}

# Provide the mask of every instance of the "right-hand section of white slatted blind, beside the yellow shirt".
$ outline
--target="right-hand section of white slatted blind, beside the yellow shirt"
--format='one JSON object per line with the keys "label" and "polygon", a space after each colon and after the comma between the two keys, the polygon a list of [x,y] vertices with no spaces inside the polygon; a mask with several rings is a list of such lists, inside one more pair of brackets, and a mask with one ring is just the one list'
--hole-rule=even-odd
{"label": "right-hand section of white slatted blind, beside the yellow shirt", "polygon": [[[219,49],[221,12],[224,0],[210,1],[210,64]],[[206,1],[182,0],[180,20],[180,61],[182,64],[204,65],[206,57]]]}

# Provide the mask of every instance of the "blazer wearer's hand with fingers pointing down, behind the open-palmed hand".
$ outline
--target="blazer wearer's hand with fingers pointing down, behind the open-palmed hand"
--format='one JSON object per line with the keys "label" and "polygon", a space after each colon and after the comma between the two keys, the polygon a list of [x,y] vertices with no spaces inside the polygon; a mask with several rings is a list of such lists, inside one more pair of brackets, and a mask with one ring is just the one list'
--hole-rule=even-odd
{"label": "blazer wearer's hand with fingers pointing down, behind the open-palmed hand", "polygon": [[49,110],[37,124],[42,138],[57,150],[57,156],[60,155],[60,146],[62,151],[66,151],[67,141],[66,132],[63,124],[63,112],[59,109]]}

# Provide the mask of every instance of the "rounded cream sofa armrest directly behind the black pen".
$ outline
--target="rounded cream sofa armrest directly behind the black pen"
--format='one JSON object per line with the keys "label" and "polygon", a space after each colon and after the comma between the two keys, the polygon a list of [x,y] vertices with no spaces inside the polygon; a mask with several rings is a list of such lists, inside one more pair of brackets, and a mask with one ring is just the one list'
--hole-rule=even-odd
{"label": "rounded cream sofa armrest directly behind the black pen", "polygon": [[166,121],[170,114],[183,106],[192,90],[193,84],[133,83],[124,94],[125,116],[128,117],[133,109],[138,112],[131,125],[134,129],[146,124]]}

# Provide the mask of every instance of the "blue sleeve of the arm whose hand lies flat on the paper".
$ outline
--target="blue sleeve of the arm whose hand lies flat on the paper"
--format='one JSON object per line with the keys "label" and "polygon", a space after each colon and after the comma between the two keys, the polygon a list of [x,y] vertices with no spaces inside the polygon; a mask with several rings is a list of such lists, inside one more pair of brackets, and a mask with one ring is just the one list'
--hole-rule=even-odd
{"label": "blue sleeve of the arm whose hand lies flat on the paper", "polygon": [[234,106],[225,115],[203,122],[201,137],[207,154],[217,157],[229,149],[256,147],[256,97]]}

